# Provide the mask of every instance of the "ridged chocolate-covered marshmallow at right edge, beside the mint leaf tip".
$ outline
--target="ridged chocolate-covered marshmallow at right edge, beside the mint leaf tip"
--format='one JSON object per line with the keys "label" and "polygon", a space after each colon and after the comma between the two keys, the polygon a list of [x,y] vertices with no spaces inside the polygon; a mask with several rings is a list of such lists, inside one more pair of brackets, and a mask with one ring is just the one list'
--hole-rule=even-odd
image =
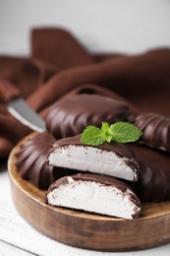
{"label": "ridged chocolate-covered marshmallow at right edge, beside the mint leaf tip", "polygon": [[141,141],[144,144],[170,152],[170,118],[145,112],[136,118],[135,125],[142,130]]}

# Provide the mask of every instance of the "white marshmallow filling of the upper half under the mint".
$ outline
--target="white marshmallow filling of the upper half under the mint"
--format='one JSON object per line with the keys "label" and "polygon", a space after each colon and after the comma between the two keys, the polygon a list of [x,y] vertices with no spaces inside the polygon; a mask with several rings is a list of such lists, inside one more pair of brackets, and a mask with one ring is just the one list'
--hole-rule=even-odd
{"label": "white marshmallow filling of the upper half under the mint", "polygon": [[136,171],[128,164],[133,159],[118,157],[114,152],[95,147],[68,145],[49,154],[48,164],[105,174],[127,180],[137,180]]}

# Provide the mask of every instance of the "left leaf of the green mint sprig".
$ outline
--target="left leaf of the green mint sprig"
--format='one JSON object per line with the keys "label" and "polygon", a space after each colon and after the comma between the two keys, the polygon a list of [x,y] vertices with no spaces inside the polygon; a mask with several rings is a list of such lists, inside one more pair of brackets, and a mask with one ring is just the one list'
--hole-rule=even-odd
{"label": "left leaf of the green mint sprig", "polygon": [[[103,127],[104,130],[104,127]],[[82,134],[81,142],[86,145],[99,146],[105,143],[106,138],[104,131],[95,126],[87,126]]]}

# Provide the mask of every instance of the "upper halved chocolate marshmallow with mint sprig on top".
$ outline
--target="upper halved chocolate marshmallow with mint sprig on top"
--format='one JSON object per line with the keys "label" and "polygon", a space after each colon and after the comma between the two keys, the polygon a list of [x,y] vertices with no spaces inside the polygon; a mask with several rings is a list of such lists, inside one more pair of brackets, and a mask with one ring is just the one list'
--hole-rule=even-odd
{"label": "upper halved chocolate marshmallow with mint sprig on top", "polygon": [[81,136],[63,138],[47,156],[49,165],[106,174],[126,180],[138,180],[139,164],[134,153],[123,144],[105,143],[87,146]]}

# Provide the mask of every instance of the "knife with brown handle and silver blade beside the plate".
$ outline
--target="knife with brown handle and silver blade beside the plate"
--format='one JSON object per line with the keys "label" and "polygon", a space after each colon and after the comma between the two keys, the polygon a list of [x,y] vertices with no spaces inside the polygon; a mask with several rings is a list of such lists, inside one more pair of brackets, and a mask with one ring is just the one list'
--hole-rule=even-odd
{"label": "knife with brown handle and silver blade beside the plate", "polygon": [[45,131],[44,120],[28,106],[20,91],[4,78],[0,78],[0,99],[7,104],[8,111],[20,122],[34,131]]}

